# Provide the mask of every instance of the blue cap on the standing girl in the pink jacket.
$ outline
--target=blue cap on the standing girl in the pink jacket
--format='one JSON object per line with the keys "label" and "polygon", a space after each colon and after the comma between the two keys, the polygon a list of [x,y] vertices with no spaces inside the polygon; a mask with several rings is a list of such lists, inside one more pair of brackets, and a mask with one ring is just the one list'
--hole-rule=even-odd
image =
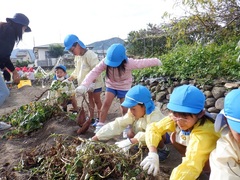
{"label": "blue cap on the standing girl in the pink jacket", "polygon": [[118,67],[127,59],[125,47],[122,44],[112,44],[107,50],[104,63],[110,67]]}

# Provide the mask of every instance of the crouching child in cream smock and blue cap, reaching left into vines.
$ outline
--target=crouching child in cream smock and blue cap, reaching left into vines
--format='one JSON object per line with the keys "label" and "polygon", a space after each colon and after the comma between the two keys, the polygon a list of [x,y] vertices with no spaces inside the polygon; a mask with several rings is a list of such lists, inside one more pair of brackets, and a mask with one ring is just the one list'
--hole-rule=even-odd
{"label": "crouching child in cream smock and blue cap, reaching left into vines", "polygon": [[[115,121],[109,122],[104,125],[92,140],[108,140],[116,135],[120,135],[123,130],[130,125],[132,128],[128,132],[128,139],[117,142],[116,144],[127,151],[131,144],[145,143],[145,130],[146,127],[152,123],[157,122],[164,117],[161,111],[155,107],[151,99],[150,91],[142,85],[132,87],[126,94],[122,106],[129,108],[128,113],[123,117],[118,117]],[[164,135],[164,140],[165,140]],[[162,153],[165,159],[169,155],[169,150],[166,145],[161,143],[159,148],[162,148]]]}

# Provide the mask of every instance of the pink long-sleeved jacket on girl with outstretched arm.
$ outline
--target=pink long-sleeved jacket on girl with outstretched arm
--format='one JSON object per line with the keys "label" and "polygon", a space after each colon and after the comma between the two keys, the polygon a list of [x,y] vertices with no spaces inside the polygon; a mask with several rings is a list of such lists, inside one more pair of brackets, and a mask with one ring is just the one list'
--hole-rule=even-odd
{"label": "pink long-sleeved jacket on girl with outstretched arm", "polygon": [[[115,90],[124,90],[128,91],[132,86],[132,70],[133,69],[142,69],[152,66],[162,65],[161,61],[157,58],[149,59],[131,59],[129,58],[126,66],[125,73],[119,76],[118,70],[114,68],[113,72],[110,72],[110,77],[105,79],[106,87],[112,88]],[[90,84],[104,71],[106,70],[107,65],[104,63],[104,59],[98,63],[95,68],[93,68],[87,76],[84,78],[81,85],[89,87]]]}

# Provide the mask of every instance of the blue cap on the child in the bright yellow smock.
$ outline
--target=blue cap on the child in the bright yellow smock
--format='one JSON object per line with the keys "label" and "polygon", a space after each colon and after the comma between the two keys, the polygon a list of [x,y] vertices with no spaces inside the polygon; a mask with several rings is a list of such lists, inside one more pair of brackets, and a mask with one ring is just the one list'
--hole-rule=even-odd
{"label": "blue cap on the child in the bright yellow smock", "polygon": [[175,112],[198,114],[204,109],[205,96],[192,85],[176,87],[170,95],[167,108]]}

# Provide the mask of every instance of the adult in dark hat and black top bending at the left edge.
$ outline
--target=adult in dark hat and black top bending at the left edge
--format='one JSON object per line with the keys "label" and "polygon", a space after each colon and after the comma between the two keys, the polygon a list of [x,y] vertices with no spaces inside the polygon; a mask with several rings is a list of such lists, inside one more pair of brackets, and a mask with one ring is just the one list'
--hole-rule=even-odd
{"label": "adult in dark hat and black top bending at the left edge", "polygon": [[[13,18],[6,18],[7,22],[0,22],[0,68],[10,70],[13,75],[13,82],[18,84],[20,77],[15,70],[10,56],[15,43],[22,40],[24,32],[31,32],[28,26],[29,19],[22,13],[16,13]],[[10,92],[2,76],[0,76],[0,106],[9,96]],[[9,126],[7,126],[9,127]],[[0,124],[0,130],[5,129],[4,123]]]}

